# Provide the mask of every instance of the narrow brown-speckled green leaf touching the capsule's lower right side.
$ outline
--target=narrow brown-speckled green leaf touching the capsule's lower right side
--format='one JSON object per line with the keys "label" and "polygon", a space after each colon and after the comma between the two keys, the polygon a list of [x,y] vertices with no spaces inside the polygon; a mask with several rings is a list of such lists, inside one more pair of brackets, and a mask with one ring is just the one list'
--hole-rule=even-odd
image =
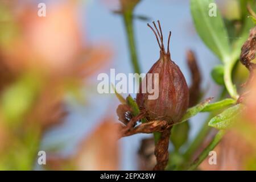
{"label": "narrow brown-speckled green leaf touching the capsule's lower right side", "polygon": [[[206,107],[209,102],[213,99],[213,97],[207,98],[206,100],[204,100],[203,102],[200,102],[199,104],[197,104],[196,106],[193,106],[191,108],[189,108],[187,110],[187,112],[184,114],[184,116],[181,118],[181,122],[185,122],[187,121],[189,118],[192,118],[194,115],[196,115],[197,113],[199,113],[201,110],[204,109],[204,107]],[[177,123],[177,124],[179,124]]]}

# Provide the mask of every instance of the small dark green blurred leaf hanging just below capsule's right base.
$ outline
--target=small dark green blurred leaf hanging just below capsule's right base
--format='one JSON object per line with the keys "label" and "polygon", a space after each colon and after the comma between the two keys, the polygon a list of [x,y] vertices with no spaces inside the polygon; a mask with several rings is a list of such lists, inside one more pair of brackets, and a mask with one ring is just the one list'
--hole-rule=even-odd
{"label": "small dark green blurred leaf hanging just below capsule's right base", "polygon": [[187,142],[188,132],[189,132],[188,122],[183,122],[183,123],[180,123],[180,125],[173,126],[170,139],[172,141],[172,144],[174,144],[176,151],[178,151],[179,148],[183,146],[185,142]]}

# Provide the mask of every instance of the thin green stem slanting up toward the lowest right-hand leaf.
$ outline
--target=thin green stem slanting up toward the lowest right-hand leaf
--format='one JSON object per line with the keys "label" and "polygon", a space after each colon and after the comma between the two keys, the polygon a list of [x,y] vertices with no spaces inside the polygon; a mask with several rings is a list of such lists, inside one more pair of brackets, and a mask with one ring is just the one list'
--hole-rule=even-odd
{"label": "thin green stem slanting up toward the lowest right-hand leaf", "polygon": [[218,131],[218,133],[213,138],[212,142],[210,142],[210,144],[204,149],[204,151],[201,152],[201,154],[195,160],[195,162],[193,162],[189,166],[188,171],[192,171],[196,169],[199,166],[199,164],[201,164],[201,162],[203,162],[203,160],[207,158],[207,156],[209,155],[209,152],[212,151],[217,146],[217,144],[220,142],[220,140],[223,138],[224,135],[225,135],[225,130]]}

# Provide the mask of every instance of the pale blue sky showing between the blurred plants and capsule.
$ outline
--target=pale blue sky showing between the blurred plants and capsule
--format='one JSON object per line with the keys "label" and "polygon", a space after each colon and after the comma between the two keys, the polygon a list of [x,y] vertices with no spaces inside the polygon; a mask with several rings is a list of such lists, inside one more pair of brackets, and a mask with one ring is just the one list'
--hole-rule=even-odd
{"label": "pale blue sky showing between the blurred plants and capsule", "polygon": [[[49,1],[40,2],[49,3]],[[82,3],[80,14],[86,39],[92,43],[108,42],[114,50],[112,65],[101,72],[109,74],[109,69],[115,68],[116,73],[133,73],[122,17],[113,14],[108,6],[97,0]],[[189,10],[189,0],[142,0],[136,7],[135,14],[147,16],[152,20],[160,20],[166,44],[168,31],[172,31],[171,58],[179,65],[188,85],[190,75],[185,61],[185,51],[187,49],[195,51],[203,75],[202,89],[207,92],[205,97],[216,96],[218,87],[210,78],[210,70],[218,64],[218,60],[196,34]],[[147,27],[147,23],[150,22],[135,20],[134,23],[139,63],[142,71],[147,72],[159,59],[159,47],[154,34]],[[84,88],[86,105],[77,104],[67,98],[70,115],[63,125],[47,132],[42,142],[42,150],[59,146],[61,154],[70,154],[79,141],[86,137],[98,122],[102,121],[103,115],[115,115],[117,99],[113,94],[97,94],[97,75],[90,78],[90,81],[92,84],[89,88],[88,86]],[[195,136],[206,117],[207,114],[198,114],[191,119],[190,139]],[[138,147],[141,139],[148,136],[139,134],[121,139],[121,169],[137,169]]]}

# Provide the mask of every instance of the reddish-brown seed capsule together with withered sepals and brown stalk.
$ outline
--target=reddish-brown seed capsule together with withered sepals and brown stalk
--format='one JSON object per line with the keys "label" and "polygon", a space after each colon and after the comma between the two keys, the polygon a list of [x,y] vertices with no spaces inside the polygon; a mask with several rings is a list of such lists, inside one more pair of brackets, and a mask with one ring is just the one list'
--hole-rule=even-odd
{"label": "reddish-brown seed capsule together with withered sepals and brown stalk", "polygon": [[[189,90],[187,82],[180,71],[179,67],[171,60],[170,56],[170,38],[171,32],[168,37],[167,52],[165,51],[163,44],[163,34],[158,20],[159,30],[153,22],[156,31],[147,24],[148,27],[154,32],[156,40],[160,48],[160,58],[152,66],[148,74],[158,74],[159,80],[152,79],[146,82],[152,84],[151,88],[155,89],[155,82],[158,84],[159,97],[156,99],[150,99],[151,94],[146,92],[142,84],[139,86],[139,92],[137,93],[136,102],[139,106],[139,114],[135,117],[127,117],[132,109],[125,106],[119,105],[117,109],[119,120],[126,126],[121,127],[121,137],[127,137],[136,133],[153,133],[159,131],[161,133],[160,139],[157,141],[155,146],[156,165],[154,170],[163,170],[168,163],[168,145],[171,135],[171,127],[180,122],[185,111],[188,109],[189,104]],[[157,32],[157,34],[156,34]],[[159,41],[160,39],[160,41]],[[147,75],[144,79],[147,79]],[[141,121],[141,125],[136,126],[136,122]]]}

